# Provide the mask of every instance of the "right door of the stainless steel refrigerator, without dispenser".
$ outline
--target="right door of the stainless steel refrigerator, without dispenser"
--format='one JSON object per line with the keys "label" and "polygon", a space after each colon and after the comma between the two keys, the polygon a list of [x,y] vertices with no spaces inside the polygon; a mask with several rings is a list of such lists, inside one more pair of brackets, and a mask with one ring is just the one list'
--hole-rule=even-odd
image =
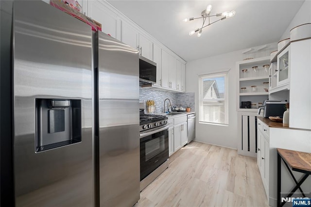
{"label": "right door of the stainless steel refrigerator, without dispenser", "polygon": [[138,51],[102,32],[95,35],[99,202],[102,207],[133,206],[140,195]]}

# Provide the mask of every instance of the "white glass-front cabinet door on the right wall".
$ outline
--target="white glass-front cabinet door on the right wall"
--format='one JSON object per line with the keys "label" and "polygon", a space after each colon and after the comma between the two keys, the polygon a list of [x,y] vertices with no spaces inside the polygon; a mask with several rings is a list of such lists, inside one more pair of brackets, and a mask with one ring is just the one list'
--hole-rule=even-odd
{"label": "white glass-front cabinet door on the right wall", "polygon": [[290,82],[290,45],[277,55],[276,86]]}

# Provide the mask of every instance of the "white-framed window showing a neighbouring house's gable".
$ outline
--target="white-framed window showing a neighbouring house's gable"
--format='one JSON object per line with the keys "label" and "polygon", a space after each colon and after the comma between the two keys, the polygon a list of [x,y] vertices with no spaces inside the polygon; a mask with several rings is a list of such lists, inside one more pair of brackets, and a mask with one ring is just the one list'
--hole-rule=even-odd
{"label": "white-framed window showing a neighbouring house's gable", "polygon": [[228,72],[199,75],[199,122],[228,125]]}

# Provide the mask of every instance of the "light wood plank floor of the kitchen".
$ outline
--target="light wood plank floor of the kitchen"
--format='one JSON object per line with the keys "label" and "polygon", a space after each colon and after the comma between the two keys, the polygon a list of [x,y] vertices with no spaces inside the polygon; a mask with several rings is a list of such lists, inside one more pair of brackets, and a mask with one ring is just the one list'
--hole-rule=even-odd
{"label": "light wood plank floor of the kitchen", "polygon": [[257,160],[192,141],[141,191],[135,207],[267,207]]}

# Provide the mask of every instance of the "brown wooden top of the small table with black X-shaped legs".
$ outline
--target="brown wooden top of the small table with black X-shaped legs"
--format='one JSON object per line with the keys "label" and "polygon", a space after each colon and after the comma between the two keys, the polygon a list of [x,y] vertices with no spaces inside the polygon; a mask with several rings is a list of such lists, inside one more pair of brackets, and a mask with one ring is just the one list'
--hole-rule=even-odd
{"label": "brown wooden top of the small table with black X-shaped legs", "polygon": [[311,173],[311,153],[277,148],[278,154],[294,171]]}

